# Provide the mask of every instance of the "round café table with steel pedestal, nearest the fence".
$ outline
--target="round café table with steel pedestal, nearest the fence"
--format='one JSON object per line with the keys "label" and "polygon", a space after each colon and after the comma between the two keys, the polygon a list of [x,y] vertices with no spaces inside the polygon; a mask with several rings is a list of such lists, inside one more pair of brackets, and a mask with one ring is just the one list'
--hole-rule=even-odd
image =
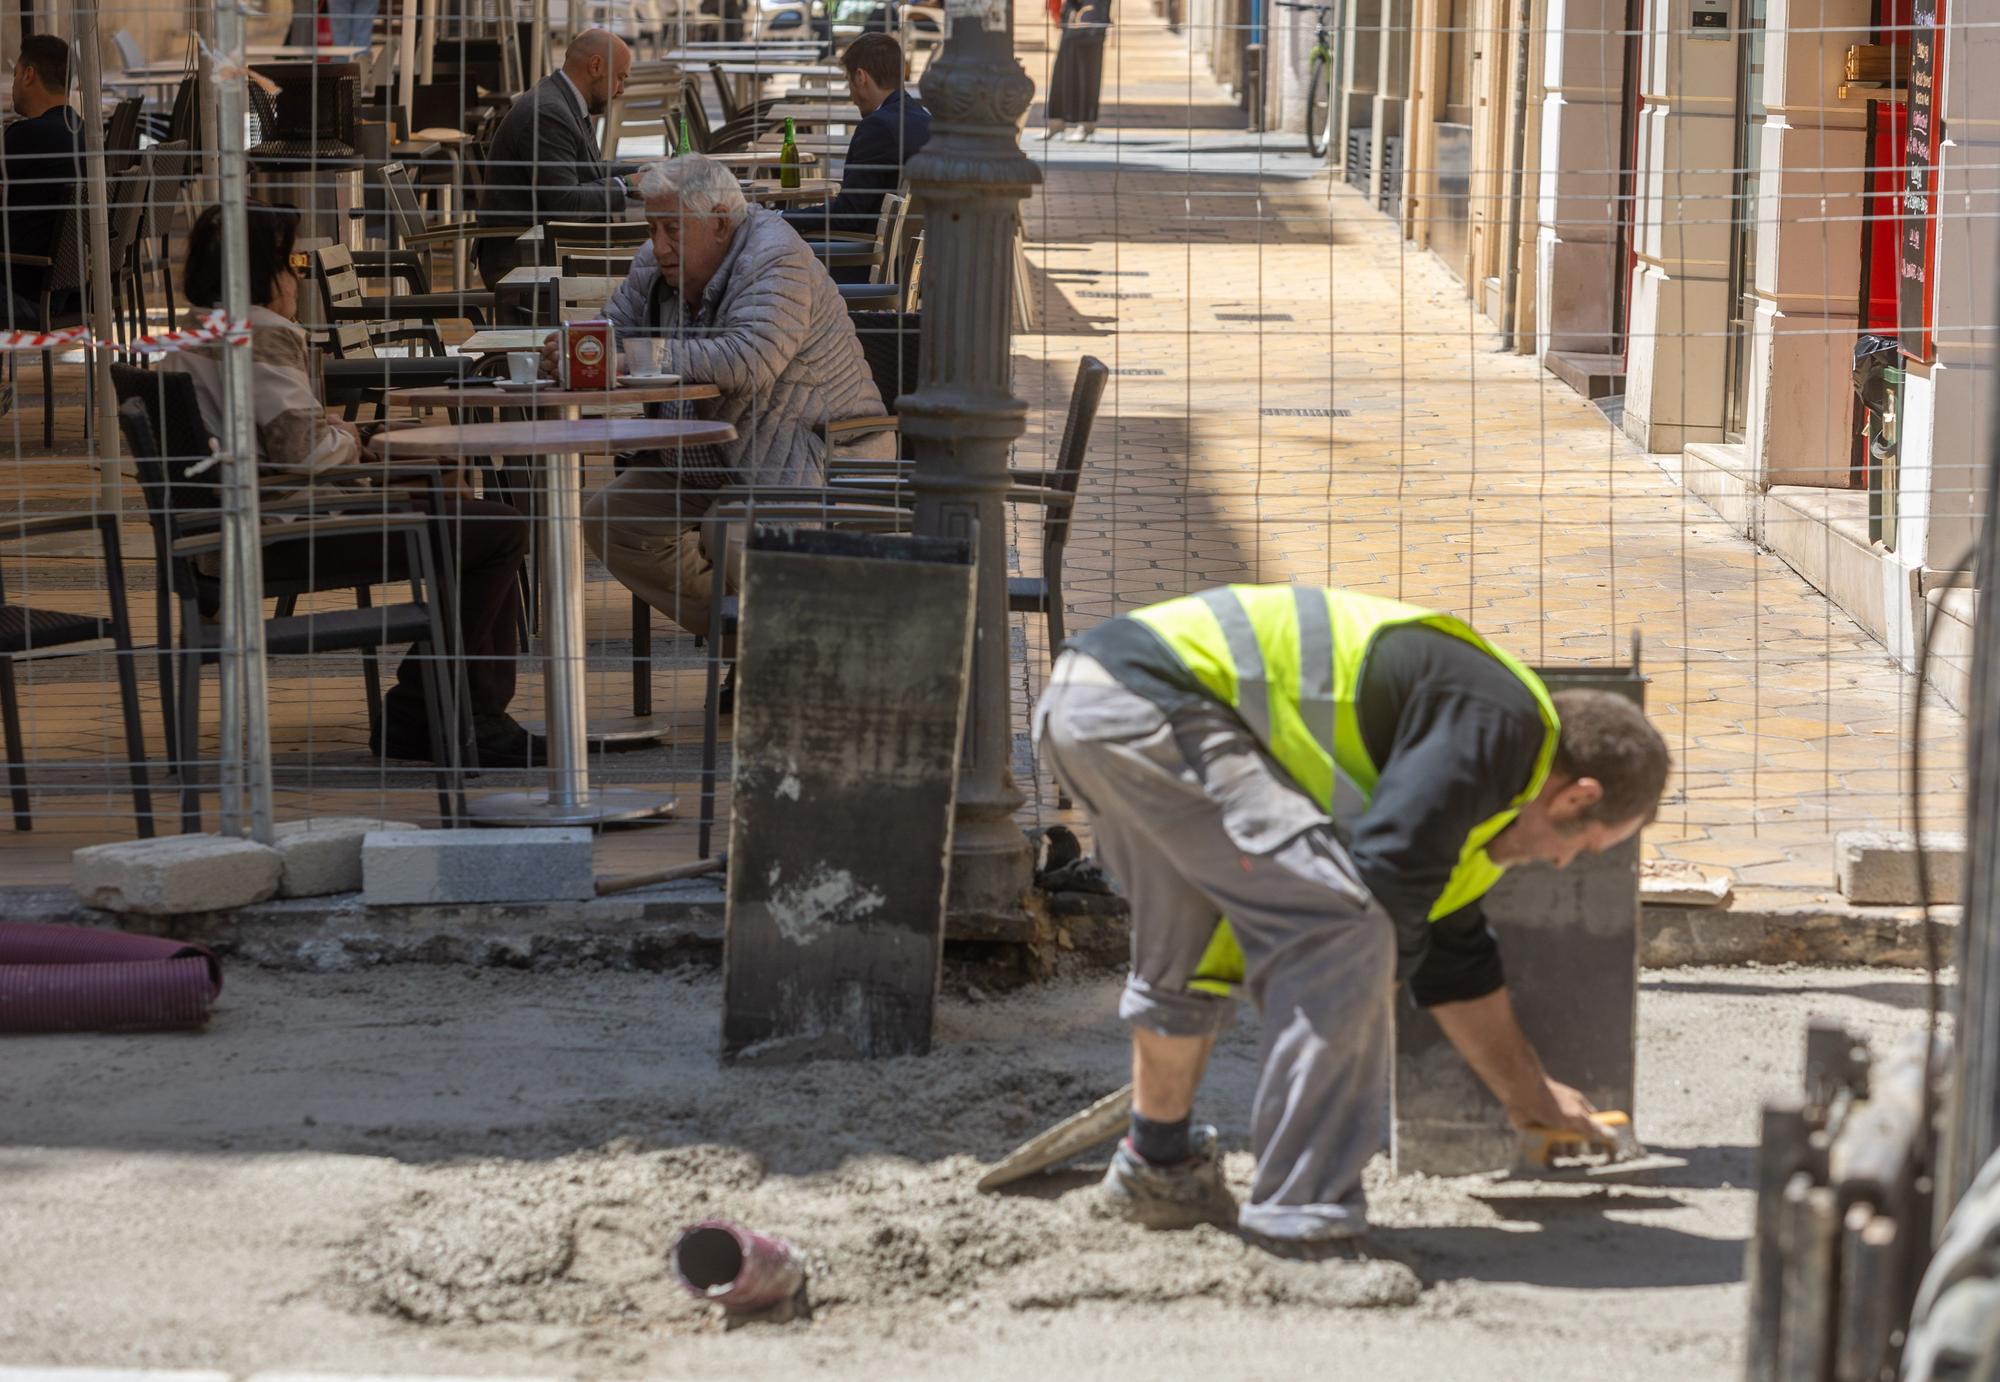
{"label": "round caf\u00e9 table with steel pedestal, nearest the fence", "polygon": [[[470,390],[468,390],[470,392]],[[624,390],[536,390],[532,406],[582,406]],[[494,396],[496,402],[502,396]],[[526,402],[530,396],[516,394]],[[638,402],[634,398],[634,402]],[[534,418],[416,426],[376,436],[384,460],[538,456],[542,466],[542,648],[548,716],[548,788],[498,792],[470,804],[488,826],[610,826],[654,820],[674,798],[632,788],[592,788],[584,752],[584,530],[582,458],[662,446],[736,440],[726,422],[694,418]]]}

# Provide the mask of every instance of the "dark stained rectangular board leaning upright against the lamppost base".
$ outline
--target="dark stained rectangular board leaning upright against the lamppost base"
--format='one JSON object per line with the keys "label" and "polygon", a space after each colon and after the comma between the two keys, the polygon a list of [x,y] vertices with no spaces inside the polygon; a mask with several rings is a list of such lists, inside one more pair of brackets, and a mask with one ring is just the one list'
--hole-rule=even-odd
{"label": "dark stained rectangular board leaning upright against the lamppost base", "polygon": [[962,540],[752,536],[724,1058],[930,1050],[972,590]]}

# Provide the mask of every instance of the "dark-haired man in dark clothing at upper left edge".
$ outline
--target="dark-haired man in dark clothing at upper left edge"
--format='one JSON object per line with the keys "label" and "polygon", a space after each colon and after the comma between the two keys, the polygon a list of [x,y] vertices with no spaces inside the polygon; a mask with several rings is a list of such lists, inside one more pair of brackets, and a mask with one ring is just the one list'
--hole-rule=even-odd
{"label": "dark-haired man in dark clothing at upper left edge", "polygon": [[[14,114],[20,120],[0,140],[0,196],[6,200],[0,254],[54,258],[62,218],[76,206],[84,180],[84,126],[70,110],[70,44],[54,34],[22,40],[14,64]],[[0,302],[12,308],[12,320],[38,322],[48,270],[0,260],[0,272],[6,274]]]}

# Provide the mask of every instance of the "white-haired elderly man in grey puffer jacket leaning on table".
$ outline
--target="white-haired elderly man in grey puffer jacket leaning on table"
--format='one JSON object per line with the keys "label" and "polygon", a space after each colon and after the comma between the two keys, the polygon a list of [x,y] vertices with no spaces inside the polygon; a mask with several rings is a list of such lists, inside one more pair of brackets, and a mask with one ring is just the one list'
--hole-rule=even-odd
{"label": "white-haired elderly man in grey puffer jacket leaning on table", "polygon": [[[604,316],[630,336],[660,336],[660,368],[722,396],[702,416],[736,428],[712,452],[648,456],[584,506],[584,540],[600,562],[692,634],[708,632],[706,490],[822,482],[822,422],[882,416],[840,290],[780,216],[744,206],[728,168],[682,154],[640,174],[652,240],[632,258]],[[544,368],[554,364],[554,338]],[[850,450],[894,456],[876,434]],[[696,460],[702,456],[702,460]],[[728,584],[734,586],[736,552]]]}

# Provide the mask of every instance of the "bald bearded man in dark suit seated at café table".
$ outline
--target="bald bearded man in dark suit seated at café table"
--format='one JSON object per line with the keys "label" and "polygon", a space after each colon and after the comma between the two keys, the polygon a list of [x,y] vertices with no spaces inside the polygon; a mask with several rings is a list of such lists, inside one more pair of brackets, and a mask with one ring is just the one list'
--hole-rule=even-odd
{"label": "bald bearded man in dark suit seated at caf\u00e9 table", "polygon": [[[604,28],[578,34],[562,70],[544,76],[514,102],[486,152],[480,224],[520,226],[550,220],[622,220],[630,178],[598,156],[592,116],[624,92],[632,50]],[[480,240],[480,280],[494,288],[522,262],[508,238]]]}

